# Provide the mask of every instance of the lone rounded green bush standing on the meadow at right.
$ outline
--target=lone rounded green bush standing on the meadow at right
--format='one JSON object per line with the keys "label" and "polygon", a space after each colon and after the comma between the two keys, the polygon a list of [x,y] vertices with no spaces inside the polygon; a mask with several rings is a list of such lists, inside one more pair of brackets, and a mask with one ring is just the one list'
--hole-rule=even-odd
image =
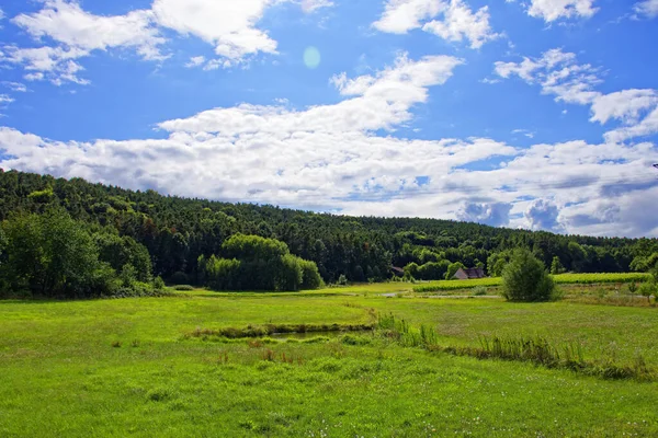
{"label": "lone rounded green bush standing on the meadow at right", "polygon": [[502,272],[502,296],[509,301],[547,301],[554,291],[555,283],[544,264],[530,251],[515,250]]}

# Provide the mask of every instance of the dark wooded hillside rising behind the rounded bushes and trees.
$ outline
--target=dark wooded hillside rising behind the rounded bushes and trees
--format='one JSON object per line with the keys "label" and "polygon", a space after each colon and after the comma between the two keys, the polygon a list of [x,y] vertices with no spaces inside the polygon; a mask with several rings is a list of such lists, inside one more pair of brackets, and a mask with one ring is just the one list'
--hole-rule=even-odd
{"label": "dark wooded hillside rising behind the rounded bushes and trees", "polygon": [[316,262],[329,283],[341,274],[353,281],[384,279],[390,277],[390,266],[412,263],[421,267],[419,272],[411,265],[421,278],[440,276],[455,262],[485,265],[497,274],[518,246],[531,249],[547,267],[558,257],[559,265],[574,272],[644,270],[655,258],[651,254],[658,253],[656,239],[567,237],[436,219],[314,214],[0,170],[0,219],[58,207],[92,231],[110,228],[134,238],[148,249],[154,274],[167,279],[184,273],[190,283],[197,275],[197,258],[220,254],[222,243],[239,232],[285,242],[293,254]]}

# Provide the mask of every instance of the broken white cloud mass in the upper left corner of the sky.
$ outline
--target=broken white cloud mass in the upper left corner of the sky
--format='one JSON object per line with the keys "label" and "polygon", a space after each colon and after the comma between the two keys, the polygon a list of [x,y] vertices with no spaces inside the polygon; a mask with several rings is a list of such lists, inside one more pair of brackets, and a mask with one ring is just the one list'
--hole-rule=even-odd
{"label": "broken white cloud mass in the upper left corner of the sky", "polygon": [[[44,0],[35,13],[23,13],[12,22],[43,47],[4,47],[0,64],[22,66],[26,80],[48,79],[55,84],[89,83],[76,76],[78,58],[94,50],[132,49],[146,60],[162,61],[167,39],[161,28],[194,35],[212,44],[218,59],[204,69],[229,68],[260,54],[276,54],[276,42],[257,24],[268,8],[292,2],[311,13],[332,4],[328,0],[155,0],[151,9],[124,15],[95,15],[77,0]],[[194,62],[194,60],[192,60]],[[194,67],[194,65],[186,65]]]}

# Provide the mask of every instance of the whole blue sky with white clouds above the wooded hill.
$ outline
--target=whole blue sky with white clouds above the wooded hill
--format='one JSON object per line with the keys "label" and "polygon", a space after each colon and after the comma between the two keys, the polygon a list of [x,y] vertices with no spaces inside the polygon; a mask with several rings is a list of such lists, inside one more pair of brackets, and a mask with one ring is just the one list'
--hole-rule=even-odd
{"label": "whole blue sky with white clouds above the wooded hill", "polygon": [[658,0],[0,0],[0,168],[658,237]]}

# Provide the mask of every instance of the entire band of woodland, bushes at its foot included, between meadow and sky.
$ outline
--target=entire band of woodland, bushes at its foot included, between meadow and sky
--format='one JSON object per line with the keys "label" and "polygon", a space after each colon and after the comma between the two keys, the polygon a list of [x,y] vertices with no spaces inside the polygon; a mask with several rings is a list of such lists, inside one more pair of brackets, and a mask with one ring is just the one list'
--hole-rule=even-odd
{"label": "entire band of woodland, bushes at its foot included, between meadow and sky", "polygon": [[[518,247],[532,251],[555,274],[646,272],[658,262],[656,239],[561,235],[438,219],[349,217],[164,196],[152,189],[129,191],[82,178],[0,170],[4,265],[10,234],[21,221],[37,223],[37,218],[42,218],[45,237],[57,232],[48,229],[56,223],[76,228],[73,241],[78,243],[68,242],[75,253],[84,254],[80,249],[95,242],[99,261],[114,269],[115,281],[123,278],[125,285],[134,284],[131,279],[146,284],[161,277],[171,284],[208,286],[211,277],[217,278],[216,273],[225,269],[234,277],[219,276],[223,279],[214,281],[215,288],[235,288],[238,281],[226,278],[253,277],[259,264],[260,270],[292,266],[292,274],[277,284],[247,281],[245,287],[296,290],[339,279],[382,281],[394,276],[392,267],[405,268],[405,275],[416,279],[444,278],[457,266],[481,266],[488,275],[500,276]],[[23,224],[22,229],[32,228]],[[264,266],[269,256],[240,261],[241,253],[236,252],[240,240],[253,246],[252,253],[264,245],[263,251],[275,254],[276,263]],[[23,242],[23,246],[29,244]],[[13,245],[21,243],[14,239]],[[97,275],[103,266],[95,267]],[[46,290],[49,286],[44,281],[33,288]],[[97,287],[98,278],[84,281],[86,287]]]}

